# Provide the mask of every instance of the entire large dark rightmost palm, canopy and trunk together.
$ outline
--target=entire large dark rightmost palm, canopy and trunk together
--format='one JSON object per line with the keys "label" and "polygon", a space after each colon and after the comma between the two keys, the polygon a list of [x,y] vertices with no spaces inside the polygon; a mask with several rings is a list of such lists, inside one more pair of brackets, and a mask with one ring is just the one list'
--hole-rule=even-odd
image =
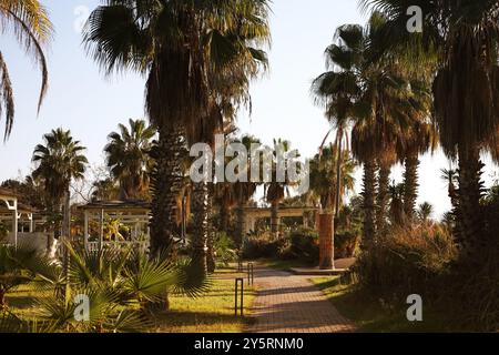
{"label": "entire large dark rightmost palm, canopy and trunk together", "polygon": [[[414,59],[436,58],[435,123],[445,153],[459,160],[456,233],[462,256],[487,247],[482,235],[480,151],[499,125],[498,1],[361,0],[386,14],[381,48],[403,48]],[[406,10],[421,8],[422,33],[406,31]],[[436,54],[436,55],[435,55]],[[408,55],[409,57],[409,55]]]}

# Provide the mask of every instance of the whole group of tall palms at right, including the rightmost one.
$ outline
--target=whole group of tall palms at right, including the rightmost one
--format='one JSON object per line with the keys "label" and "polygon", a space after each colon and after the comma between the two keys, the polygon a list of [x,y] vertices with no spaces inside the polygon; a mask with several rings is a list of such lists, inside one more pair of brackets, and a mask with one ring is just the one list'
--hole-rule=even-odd
{"label": "whole group of tall palms at right, including the rightmost one", "polygon": [[[387,233],[389,194],[398,223],[417,217],[419,154],[440,144],[458,162],[451,199],[455,235],[464,258],[487,247],[480,154],[497,156],[497,1],[361,0],[366,27],[337,29],[327,48],[329,71],[313,92],[338,134],[350,131],[352,152],[364,164],[364,242]],[[407,31],[406,11],[418,6],[424,31]],[[340,145],[339,145],[340,146]],[[404,163],[401,186],[389,186],[390,168]],[[450,192],[449,192],[450,193]],[[427,219],[428,206],[420,209]],[[421,217],[421,216],[420,216]]]}

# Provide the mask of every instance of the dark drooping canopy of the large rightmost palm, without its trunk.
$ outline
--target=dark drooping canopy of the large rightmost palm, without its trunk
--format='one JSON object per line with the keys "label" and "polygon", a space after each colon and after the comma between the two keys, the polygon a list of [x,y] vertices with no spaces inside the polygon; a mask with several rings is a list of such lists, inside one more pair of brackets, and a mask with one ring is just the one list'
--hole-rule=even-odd
{"label": "dark drooping canopy of the large rightmost palm, without its trunk", "polygon": [[[498,1],[361,0],[388,19],[380,32],[389,41],[380,51],[403,48],[413,57],[435,57],[435,123],[445,153],[487,143],[499,126]],[[422,33],[406,30],[407,8],[422,10]]]}

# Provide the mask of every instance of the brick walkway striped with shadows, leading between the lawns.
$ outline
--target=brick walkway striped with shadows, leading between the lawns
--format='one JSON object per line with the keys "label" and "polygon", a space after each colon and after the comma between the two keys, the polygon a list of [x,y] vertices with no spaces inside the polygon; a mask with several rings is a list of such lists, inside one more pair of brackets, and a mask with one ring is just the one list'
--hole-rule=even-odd
{"label": "brick walkway striped with shadows, leading between the lawns", "polygon": [[355,326],[342,316],[306,276],[255,270],[258,293],[252,316],[256,324],[248,333],[340,333]]}

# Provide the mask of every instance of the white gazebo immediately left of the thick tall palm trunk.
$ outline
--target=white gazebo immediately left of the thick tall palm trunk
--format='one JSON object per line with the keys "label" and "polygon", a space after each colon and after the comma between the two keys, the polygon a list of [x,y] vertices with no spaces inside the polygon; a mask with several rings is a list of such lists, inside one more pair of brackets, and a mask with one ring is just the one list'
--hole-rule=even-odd
{"label": "white gazebo immediately left of the thick tall palm trunk", "polygon": [[[133,246],[141,252],[146,252],[150,245],[150,212],[151,205],[144,201],[96,201],[79,207],[83,211],[84,226],[83,241],[88,250],[95,251],[106,246]],[[98,222],[99,227],[91,230],[91,223]],[[105,240],[104,224],[109,221],[118,221],[130,227],[131,233],[126,239]]]}

